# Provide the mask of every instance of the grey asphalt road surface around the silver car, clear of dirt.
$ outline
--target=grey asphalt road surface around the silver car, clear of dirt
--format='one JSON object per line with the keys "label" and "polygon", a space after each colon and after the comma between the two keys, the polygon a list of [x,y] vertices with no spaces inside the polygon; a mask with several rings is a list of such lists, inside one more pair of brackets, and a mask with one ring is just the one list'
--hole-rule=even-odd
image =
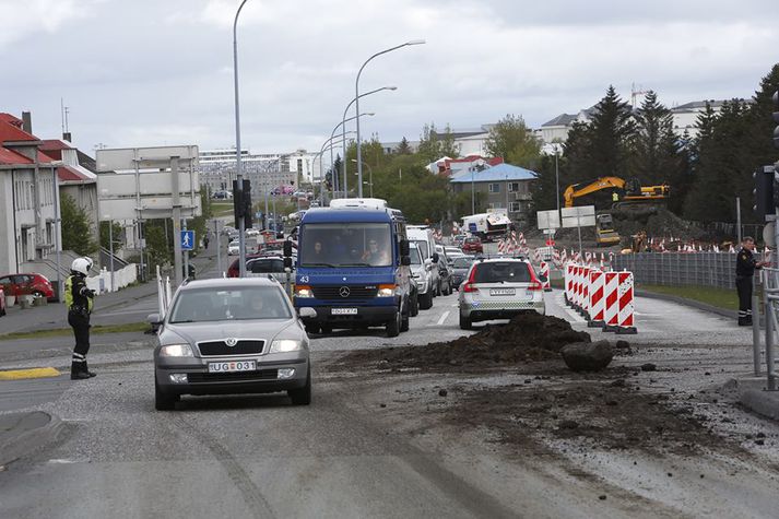
{"label": "grey asphalt road surface around the silver car, clear of dirt", "polygon": [[[586,329],[558,292],[546,296],[551,314]],[[380,330],[316,338],[310,406],[292,406],[282,394],[185,397],[177,411],[156,412],[150,338],[140,333],[107,335],[115,343],[95,347],[95,379],[0,382],[0,411],[26,405],[66,423],[57,444],[0,472],[0,517],[592,517],[599,502],[583,502],[565,477],[546,481],[521,463],[507,472],[483,450],[452,453],[455,438],[424,448],[382,425],[362,399],[365,380],[322,369],[340,351],[460,337],[456,300],[436,298],[394,339]],[[147,304],[115,311],[140,314]],[[630,341],[721,344],[748,366],[751,332],[728,319],[653,299],[639,299],[637,309],[639,334]],[[0,350],[0,359],[8,367],[69,363],[66,347],[20,357],[22,347]],[[510,489],[507,473],[516,477]]]}

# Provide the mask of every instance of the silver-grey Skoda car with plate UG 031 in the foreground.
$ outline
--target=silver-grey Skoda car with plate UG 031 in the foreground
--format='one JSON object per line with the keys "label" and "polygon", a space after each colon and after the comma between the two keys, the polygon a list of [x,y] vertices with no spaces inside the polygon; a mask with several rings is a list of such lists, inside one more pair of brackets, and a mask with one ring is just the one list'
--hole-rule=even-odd
{"label": "silver-grey Skoda car with plate UG 031 in the foreground", "polygon": [[[314,318],[314,308],[300,317]],[[154,347],[154,406],[182,394],[286,391],[311,401],[308,335],[282,286],[267,278],[185,283],[161,319]]]}

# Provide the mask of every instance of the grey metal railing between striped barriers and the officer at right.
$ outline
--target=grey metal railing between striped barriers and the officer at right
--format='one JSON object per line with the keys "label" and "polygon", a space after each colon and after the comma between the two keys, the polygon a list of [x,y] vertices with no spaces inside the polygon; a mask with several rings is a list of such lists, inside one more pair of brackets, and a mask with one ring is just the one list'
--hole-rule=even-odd
{"label": "grey metal railing between striped barriers and the officer at right", "polygon": [[735,257],[728,252],[639,252],[618,255],[611,266],[633,272],[636,283],[735,288]]}

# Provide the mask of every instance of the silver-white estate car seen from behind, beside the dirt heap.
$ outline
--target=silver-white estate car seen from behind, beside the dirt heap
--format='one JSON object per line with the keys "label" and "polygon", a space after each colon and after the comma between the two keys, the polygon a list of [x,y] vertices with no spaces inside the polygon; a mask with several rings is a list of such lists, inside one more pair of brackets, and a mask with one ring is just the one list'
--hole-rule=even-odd
{"label": "silver-white estate car seen from behind, beside the dirt heap", "polygon": [[460,328],[476,321],[510,319],[526,311],[546,312],[542,279],[523,258],[476,260],[460,286]]}

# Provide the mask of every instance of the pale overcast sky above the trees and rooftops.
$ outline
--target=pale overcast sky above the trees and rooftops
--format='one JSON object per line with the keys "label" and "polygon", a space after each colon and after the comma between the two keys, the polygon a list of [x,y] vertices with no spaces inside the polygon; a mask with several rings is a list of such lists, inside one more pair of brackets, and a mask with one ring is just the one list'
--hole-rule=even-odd
{"label": "pale overcast sky above the trees and rooftops", "polygon": [[[233,19],[239,0],[0,0],[0,111],[40,138],[109,148],[235,144]],[[363,139],[423,125],[538,127],[613,84],[669,106],[750,97],[779,60],[776,0],[248,0],[238,24],[241,144],[318,151],[361,92]],[[354,115],[354,114],[352,114]]]}

